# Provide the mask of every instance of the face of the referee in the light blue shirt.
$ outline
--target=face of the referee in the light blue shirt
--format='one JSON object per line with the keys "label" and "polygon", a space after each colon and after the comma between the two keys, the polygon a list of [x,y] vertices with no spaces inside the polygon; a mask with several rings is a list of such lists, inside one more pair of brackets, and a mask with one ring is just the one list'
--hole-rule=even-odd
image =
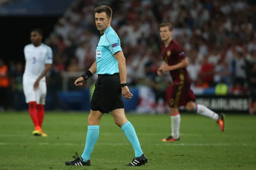
{"label": "face of the referee in the light blue shirt", "polygon": [[105,12],[102,13],[95,13],[95,23],[96,27],[100,32],[105,31],[110,24],[111,18],[108,18]]}

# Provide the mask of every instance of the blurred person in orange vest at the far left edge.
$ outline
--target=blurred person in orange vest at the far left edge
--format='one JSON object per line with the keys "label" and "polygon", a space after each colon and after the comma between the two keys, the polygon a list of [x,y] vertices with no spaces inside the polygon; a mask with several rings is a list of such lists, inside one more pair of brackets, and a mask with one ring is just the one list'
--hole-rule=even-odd
{"label": "blurred person in orange vest at the far left edge", "polygon": [[5,111],[9,105],[9,86],[8,66],[5,65],[3,59],[0,59],[0,107],[3,107]]}

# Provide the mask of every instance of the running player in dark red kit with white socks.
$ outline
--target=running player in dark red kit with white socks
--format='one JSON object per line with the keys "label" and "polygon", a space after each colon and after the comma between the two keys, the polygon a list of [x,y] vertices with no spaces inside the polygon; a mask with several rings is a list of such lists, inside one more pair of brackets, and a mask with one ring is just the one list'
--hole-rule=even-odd
{"label": "running player in dark red kit with white socks", "polygon": [[189,65],[183,48],[172,40],[172,24],[162,23],[160,25],[160,37],[163,40],[161,53],[164,59],[163,65],[157,70],[159,76],[169,71],[172,77],[172,92],[169,101],[172,134],[162,139],[163,142],[174,142],[180,139],[180,113],[178,108],[185,106],[187,111],[192,111],[214,119],[224,131],[224,114],[217,114],[204,105],[195,104],[195,96],[190,89],[191,80],[186,67]]}

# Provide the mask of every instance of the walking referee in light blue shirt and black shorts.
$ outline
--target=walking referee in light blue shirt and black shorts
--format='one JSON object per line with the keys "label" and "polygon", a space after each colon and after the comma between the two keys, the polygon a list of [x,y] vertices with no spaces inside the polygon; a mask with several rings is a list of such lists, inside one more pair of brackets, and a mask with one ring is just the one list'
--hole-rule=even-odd
{"label": "walking referee in light blue shirt and black shorts", "polygon": [[103,113],[111,112],[114,122],[121,127],[134,148],[135,158],[127,166],[140,166],[147,163],[148,159],[141,150],[133,125],[125,116],[122,95],[125,99],[131,99],[133,95],[126,84],[125,57],[120,39],[111,28],[112,9],[108,6],[98,6],[94,9],[94,15],[96,27],[101,34],[96,47],[96,62],[76,80],[75,85],[82,86],[82,82],[89,79],[94,73],[97,73],[99,78],[91,101],[84,152],[81,157],[76,153],[73,156],[75,160],[67,161],[65,164],[90,166],[90,156],[99,136],[99,120]]}

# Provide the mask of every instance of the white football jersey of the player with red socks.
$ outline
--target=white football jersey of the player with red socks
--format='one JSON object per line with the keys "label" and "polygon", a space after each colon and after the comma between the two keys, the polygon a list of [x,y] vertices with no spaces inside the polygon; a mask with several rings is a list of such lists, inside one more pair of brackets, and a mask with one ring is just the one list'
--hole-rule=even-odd
{"label": "white football jersey of the player with red socks", "polygon": [[[45,68],[45,64],[52,64],[52,49],[45,44],[35,47],[33,44],[24,47],[26,67],[24,76],[37,79]],[[45,77],[42,80],[45,80]]]}

